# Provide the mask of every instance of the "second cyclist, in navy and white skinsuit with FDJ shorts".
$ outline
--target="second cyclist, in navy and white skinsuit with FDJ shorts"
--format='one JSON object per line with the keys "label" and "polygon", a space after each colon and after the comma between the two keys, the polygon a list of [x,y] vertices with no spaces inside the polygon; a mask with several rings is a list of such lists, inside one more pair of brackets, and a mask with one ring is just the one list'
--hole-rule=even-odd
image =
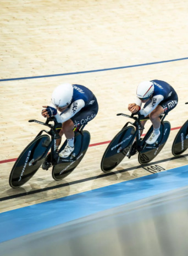
{"label": "second cyclist, in navy and white skinsuit with FDJ shorts", "polygon": [[[142,103],[145,103],[141,109]],[[178,104],[178,95],[174,88],[167,82],[161,80],[144,81],[137,87],[136,103],[128,105],[131,113],[140,111],[143,116],[150,116],[153,124],[153,132],[146,141],[147,144],[153,144],[160,135],[161,119],[160,115],[168,113]],[[141,121],[144,126],[146,121]],[[143,131],[143,130],[142,130]]]}

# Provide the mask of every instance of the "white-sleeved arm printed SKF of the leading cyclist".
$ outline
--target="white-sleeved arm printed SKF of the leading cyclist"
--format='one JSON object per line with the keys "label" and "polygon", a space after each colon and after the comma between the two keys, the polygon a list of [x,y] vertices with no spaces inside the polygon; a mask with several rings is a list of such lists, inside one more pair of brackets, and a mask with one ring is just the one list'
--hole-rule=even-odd
{"label": "white-sleeved arm printed SKF of the leading cyclist", "polygon": [[85,106],[84,100],[82,99],[75,100],[75,102],[73,102],[70,105],[70,108],[67,111],[65,111],[60,115],[57,113],[57,115],[55,115],[55,118],[58,122],[63,123],[69,120],[70,118],[72,118],[76,113],[78,113],[82,108],[84,108],[84,106]]}

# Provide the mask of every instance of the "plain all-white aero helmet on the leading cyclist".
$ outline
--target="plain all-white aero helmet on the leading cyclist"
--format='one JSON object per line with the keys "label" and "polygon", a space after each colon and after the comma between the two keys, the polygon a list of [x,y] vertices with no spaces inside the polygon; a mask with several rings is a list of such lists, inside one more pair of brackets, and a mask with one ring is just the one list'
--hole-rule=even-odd
{"label": "plain all-white aero helmet on the leading cyclist", "polygon": [[58,108],[68,106],[73,98],[73,86],[70,83],[62,83],[52,93],[52,103]]}

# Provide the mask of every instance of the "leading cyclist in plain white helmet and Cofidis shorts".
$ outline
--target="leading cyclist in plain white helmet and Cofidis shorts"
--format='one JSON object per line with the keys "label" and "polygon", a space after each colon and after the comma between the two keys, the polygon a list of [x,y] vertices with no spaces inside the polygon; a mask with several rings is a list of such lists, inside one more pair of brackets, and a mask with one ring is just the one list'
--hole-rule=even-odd
{"label": "leading cyclist in plain white helmet and Cofidis shorts", "polygon": [[[45,108],[42,110],[44,117],[54,116],[58,122],[62,123],[59,135],[62,137],[65,134],[68,143],[64,150],[59,152],[59,156],[66,158],[74,150],[74,128],[87,124],[95,118],[98,103],[95,95],[85,86],[64,83],[54,89],[51,103],[43,108]],[[61,138],[56,141],[57,149],[60,142]]]}

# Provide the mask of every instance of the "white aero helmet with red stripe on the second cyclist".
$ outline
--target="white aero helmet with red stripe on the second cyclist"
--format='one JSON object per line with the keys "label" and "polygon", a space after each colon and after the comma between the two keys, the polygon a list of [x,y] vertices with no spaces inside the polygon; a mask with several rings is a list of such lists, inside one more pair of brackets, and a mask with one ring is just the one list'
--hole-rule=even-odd
{"label": "white aero helmet with red stripe on the second cyclist", "polygon": [[137,87],[136,95],[139,99],[145,100],[150,98],[152,93],[154,92],[154,85],[150,81],[143,81],[139,83]]}

